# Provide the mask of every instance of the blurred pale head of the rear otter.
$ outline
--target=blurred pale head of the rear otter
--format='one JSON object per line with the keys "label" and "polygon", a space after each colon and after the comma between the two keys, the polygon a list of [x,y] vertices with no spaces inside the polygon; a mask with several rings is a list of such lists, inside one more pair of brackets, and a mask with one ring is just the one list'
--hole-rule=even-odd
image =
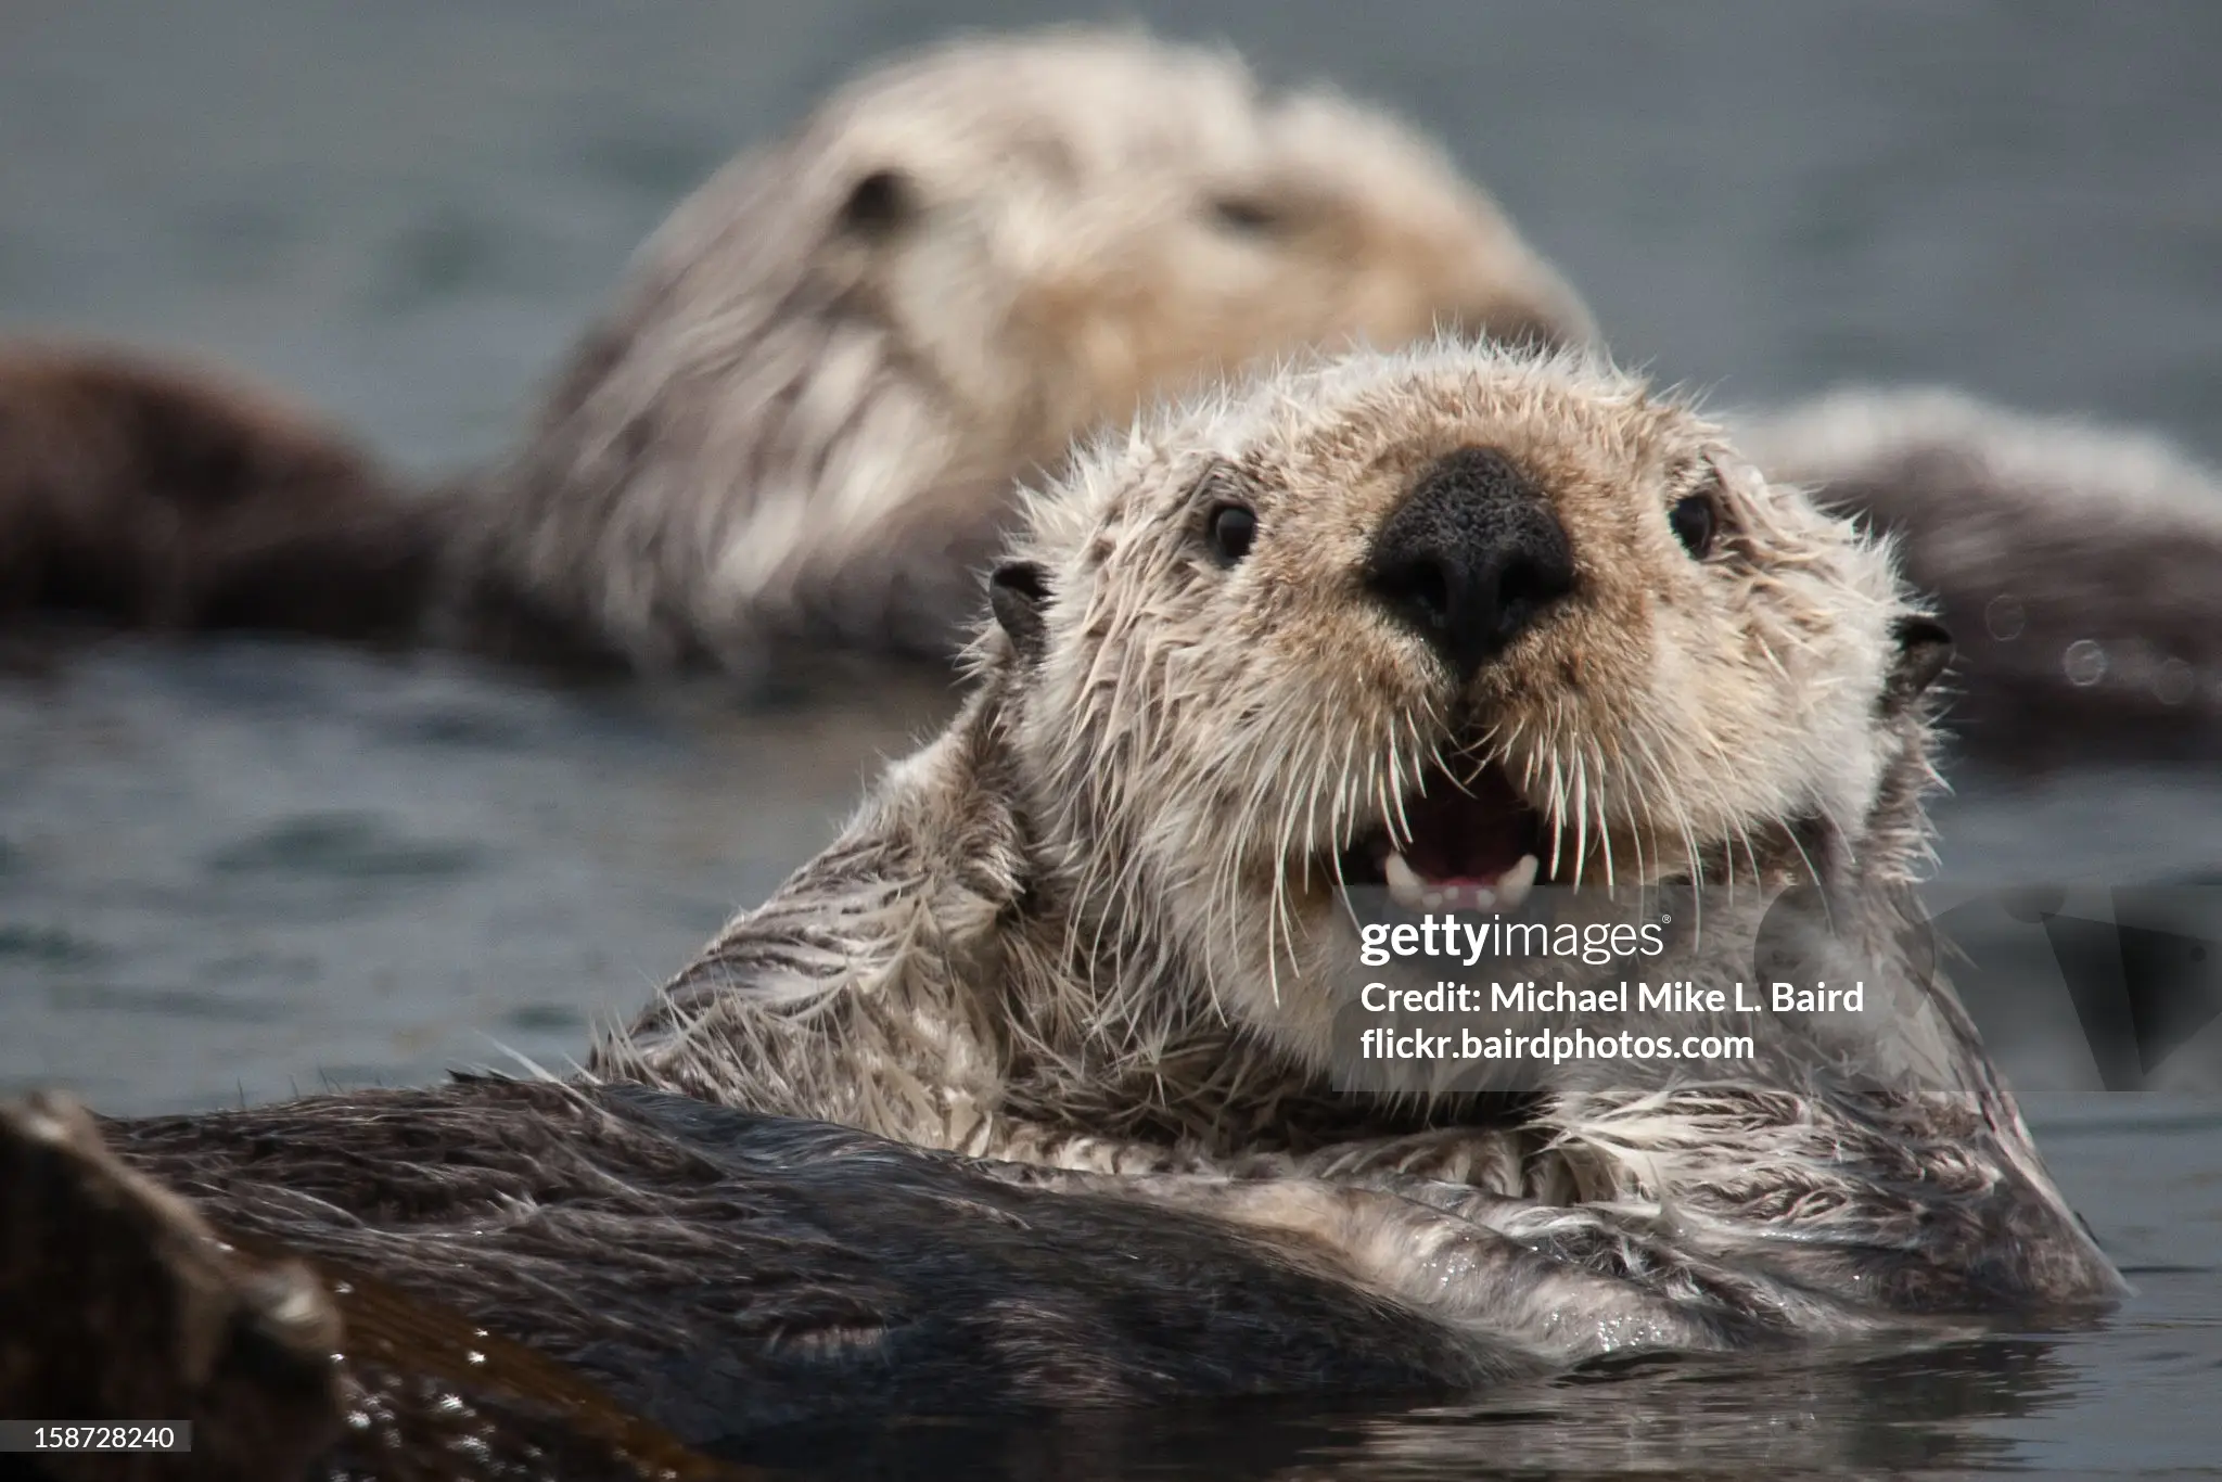
{"label": "blurred pale head of the rear otter", "polygon": [[811,635],[947,653],[1009,489],[1240,364],[1438,327],[1584,340],[1398,124],[1142,36],[867,73],[644,249],[491,502],[547,607],[644,662]]}

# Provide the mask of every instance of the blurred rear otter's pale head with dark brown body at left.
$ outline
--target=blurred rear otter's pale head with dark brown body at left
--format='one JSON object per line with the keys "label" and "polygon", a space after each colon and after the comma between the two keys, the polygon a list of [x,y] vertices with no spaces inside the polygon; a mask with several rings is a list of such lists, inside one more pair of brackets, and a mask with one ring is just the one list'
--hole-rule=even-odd
{"label": "blurred rear otter's pale head with dark brown body at left", "polygon": [[1589,316],[1427,142],[1049,31],[855,80],[682,202],[522,444],[411,493],[198,369],[0,356],[0,611],[753,673],[947,660],[1009,491],[1258,358]]}

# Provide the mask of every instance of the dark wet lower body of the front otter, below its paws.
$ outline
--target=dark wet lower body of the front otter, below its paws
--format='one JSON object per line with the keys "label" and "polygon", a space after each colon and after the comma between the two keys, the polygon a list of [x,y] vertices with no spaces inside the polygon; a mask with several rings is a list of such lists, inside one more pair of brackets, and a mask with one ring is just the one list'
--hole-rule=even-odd
{"label": "dark wet lower body of the front otter, below its paws", "polygon": [[[373,1435],[349,1435],[356,1462],[433,1449],[424,1426],[458,1386],[496,1442],[553,1435],[591,1453],[631,1424],[747,1455],[762,1438],[867,1415],[1447,1391],[1533,1366],[1349,1284],[1302,1246],[642,1089],[471,1080],[104,1124],[133,1173],[87,1149],[58,1155],[24,1138],[20,1115],[0,1122],[9,1186],[24,1166],[64,1166],[78,1195],[0,1206],[0,1326],[102,1338],[67,1375],[71,1393],[151,1371],[147,1309],[49,1284],[87,1240],[84,1206],[118,1189],[160,1218],[96,1231],[111,1264],[144,1269],[173,1238],[180,1215],[144,1178],[327,1284],[391,1282],[338,1298],[342,1384],[387,1404],[371,1406]],[[116,1315],[87,1324],[87,1311]],[[460,1342],[442,1313],[522,1340],[578,1384],[496,1353],[473,1386],[442,1364]],[[9,1413],[47,1393],[22,1389],[22,1362],[0,1375],[16,1375],[0,1382]],[[280,1398],[307,1422],[322,1413]],[[224,1429],[251,1406],[202,1413]]]}

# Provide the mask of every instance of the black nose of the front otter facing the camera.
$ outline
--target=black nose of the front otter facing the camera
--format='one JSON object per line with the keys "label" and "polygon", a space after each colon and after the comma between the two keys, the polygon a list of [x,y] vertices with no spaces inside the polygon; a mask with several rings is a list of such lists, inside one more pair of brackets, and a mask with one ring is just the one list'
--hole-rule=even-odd
{"label": "black nose of the front otter facing the camera", "polygon": [[1469,447],[1429,469],[1373,538],[1367,584],[1467,680],[1573,591],[1573,547],[1513,460]]}

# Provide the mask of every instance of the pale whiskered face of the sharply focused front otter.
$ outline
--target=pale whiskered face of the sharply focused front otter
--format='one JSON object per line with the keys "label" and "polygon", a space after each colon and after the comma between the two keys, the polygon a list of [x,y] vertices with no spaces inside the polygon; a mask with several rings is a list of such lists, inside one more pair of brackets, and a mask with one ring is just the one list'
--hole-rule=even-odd
{"label": "pale whiskered face of the sharply focused front otter", "polygon": [[1882,551],[1569,358],[1204,402],[1082,460],[1000,580],[1082,911],[1149,915],[1304,1042],[1355,962],[1342,887],[1489,911],[1780,871],[1793,824],[1858,842],[1891,760]]}

